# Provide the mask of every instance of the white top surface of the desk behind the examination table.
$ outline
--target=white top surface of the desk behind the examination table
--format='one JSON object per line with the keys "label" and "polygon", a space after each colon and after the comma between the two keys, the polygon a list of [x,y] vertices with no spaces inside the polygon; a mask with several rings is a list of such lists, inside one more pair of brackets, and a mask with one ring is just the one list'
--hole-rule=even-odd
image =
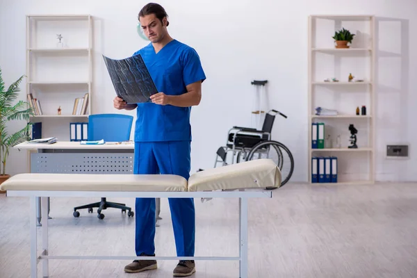
{"label": "white top surface of the desk behind the examination table", "polygon": [[22,142],[15,149],[134,149],[134,142],[106,142],[103,145],[81,145],[80,142],[58,141],[54,144]]}

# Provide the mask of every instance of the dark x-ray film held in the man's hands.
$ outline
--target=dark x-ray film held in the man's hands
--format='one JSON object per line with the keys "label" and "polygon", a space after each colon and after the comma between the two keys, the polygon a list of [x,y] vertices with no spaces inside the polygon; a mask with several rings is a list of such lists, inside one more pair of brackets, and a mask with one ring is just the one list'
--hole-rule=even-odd
{"label": "dark x-ray film held in the man's hands", "polygon": [[128,104],[149,102],[158,92],[140,54],[122,60],[103,58],[117,96]]}

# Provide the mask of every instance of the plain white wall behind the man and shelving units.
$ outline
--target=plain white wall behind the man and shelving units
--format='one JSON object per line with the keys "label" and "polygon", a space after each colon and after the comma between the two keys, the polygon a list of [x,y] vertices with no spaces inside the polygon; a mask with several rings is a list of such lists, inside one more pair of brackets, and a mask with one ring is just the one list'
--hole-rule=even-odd
{"label": "plain white wall behind the man and shelving units", "polygon": [[[25,74],[25,15],[90,13],[95,17],[95,85],[92,113],[113,113],[115,95],[101,54],[124,58],[147,42],[136,33],[145,1],[0,1],[0,66],[6,84]],[[213,167],[214,154],[231,126],[250,124],[253,79],[268,79],[269,108],[286,115],[275,122],[272,137],[291,149],[293,181],[307,180],[307,17],[311,14],[373,14],[377,19],[377,180],[417,180],[411,119],[417,112],[416,69],[411,35],[417,3],[403,1],[160,1],[170,15],[171,35],[194,47],[208,79],[200,106],[193,108],[192,172]],[[288,6],[284,6],[288,5]],[[416,42],[416,43],[414,43]],[[25,85],[22,84],[21,99]],[[231,105],[238,108],[232,108]],[[131,113],[133,115],[133,113]],[[15,123],[9,126],[16,129]],[[410,144],[410,158],[389,161],[386,144]],[[8,172],[26,171],[26,155],[13,150]]]}

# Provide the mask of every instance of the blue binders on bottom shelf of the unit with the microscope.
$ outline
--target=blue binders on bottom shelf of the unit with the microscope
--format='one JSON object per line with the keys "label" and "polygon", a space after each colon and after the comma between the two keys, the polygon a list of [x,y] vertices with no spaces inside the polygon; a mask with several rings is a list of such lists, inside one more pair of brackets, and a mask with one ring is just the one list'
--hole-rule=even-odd
{"label": "blue binders on bottom shelf of the unit with the microscope", "polygon": [[337,183],[337,162],[336,156],[313,156],[311,158],[311,182]]}

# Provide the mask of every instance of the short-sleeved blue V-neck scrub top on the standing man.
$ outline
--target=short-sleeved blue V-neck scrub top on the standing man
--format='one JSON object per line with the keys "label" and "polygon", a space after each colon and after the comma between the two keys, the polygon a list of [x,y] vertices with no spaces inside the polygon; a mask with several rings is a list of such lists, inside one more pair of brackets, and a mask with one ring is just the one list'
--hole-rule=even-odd
{"label": "short-sleeved blue V-neck scrub top on the standing man", "polygon": [[[206,76],[195,49],[172,40],[155,54],[152,43],[135,52],[140,54],[154,79],[158,92],[182,95],[186,85],[204,81]],[[138,104],[136,108],[136,142],[191,140],[191,107]]]}

